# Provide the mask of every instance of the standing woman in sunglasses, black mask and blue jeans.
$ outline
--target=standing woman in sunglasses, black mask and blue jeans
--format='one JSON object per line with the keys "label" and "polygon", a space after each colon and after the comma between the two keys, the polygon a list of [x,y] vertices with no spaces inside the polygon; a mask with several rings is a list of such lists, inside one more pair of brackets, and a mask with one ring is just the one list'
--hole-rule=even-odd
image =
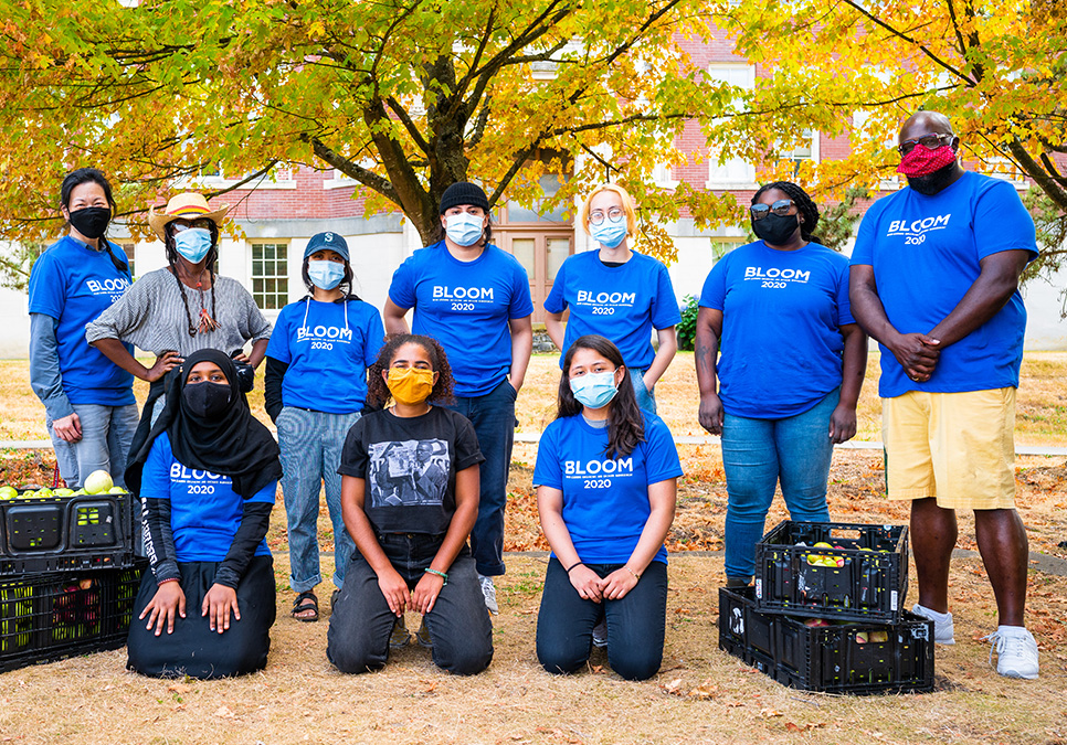
{"label": "standing woman in sunglasses, black mask and blue jeans", "polygon": [[722,435],[727,586],[752,579],[777,483],[793,520],[830,520],[833,448],[856,434],[867,364],[848,259],[813,237],[811,198],[775,181],[750,214],[760,240],[712,267],[696,329],[700,425]]}

